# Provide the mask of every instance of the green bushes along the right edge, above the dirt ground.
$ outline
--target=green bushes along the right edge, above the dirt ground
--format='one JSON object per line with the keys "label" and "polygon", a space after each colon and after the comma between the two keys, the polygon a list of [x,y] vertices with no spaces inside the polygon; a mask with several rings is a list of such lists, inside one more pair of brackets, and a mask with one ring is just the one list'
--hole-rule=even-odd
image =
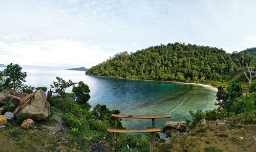
{"label": "green bushes along the right edge, above the dirt ground", "polygon": [[218,87],[216,96],[217,100],[219,100],[217,105],[220,105],[220,107],[214,110],[206,110],[205,112],[202,110],[197,112],[189,111],[194,124],[203,118],[206,120],[216,120],[241,113],[244,114],[237,116],[237,121],[243,123],[254,122],[256,92],[246,96],[242,96],[242,93],[242,87],[236,81],[232,81],[227,90],[224,90],[223,87]]}

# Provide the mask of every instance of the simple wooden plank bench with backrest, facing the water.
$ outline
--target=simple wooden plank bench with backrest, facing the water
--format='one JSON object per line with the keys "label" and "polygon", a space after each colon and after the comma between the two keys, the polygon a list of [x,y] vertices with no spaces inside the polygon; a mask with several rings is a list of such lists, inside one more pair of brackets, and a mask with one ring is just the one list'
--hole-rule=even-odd
{"label": "simple wooden plank bench with backrest, facing the water", "polygon": [[[170,118],[169,115],[153,115],[153,116],[141,116],[141,115],[117,115],[112,114],[112,117],[115,117],[115,129],[107,129],[109,132],[114,133],[114,147],[117,151],[118,137],[119,133],[151,133],[150,137],[150,152],[153,152],[153,147],[155,146],[155,132],[160,132],[161,129],[155,128],[155,119],[159,118]],[[135,119],[152,119],[152,129],[142,129],[142,130],[118,130],[117,129],[117,120],[118,118],[135,118]]]}

